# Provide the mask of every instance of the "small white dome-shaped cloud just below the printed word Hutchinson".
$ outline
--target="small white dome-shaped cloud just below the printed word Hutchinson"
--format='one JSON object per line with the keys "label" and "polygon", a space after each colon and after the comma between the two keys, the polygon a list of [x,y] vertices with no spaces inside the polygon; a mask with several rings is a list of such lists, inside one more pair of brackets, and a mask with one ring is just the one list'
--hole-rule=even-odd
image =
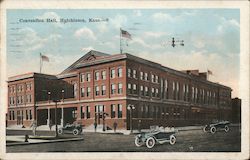
{"label": "small white dome-shaped cloud just below the printed word Hutchinson", "polygon": [[83,27],[75,31],[74,36],[78,39],[83,38],[83,39],[88,39],[88,40],[96,40],[96,36],[94,32],[87,27]]}

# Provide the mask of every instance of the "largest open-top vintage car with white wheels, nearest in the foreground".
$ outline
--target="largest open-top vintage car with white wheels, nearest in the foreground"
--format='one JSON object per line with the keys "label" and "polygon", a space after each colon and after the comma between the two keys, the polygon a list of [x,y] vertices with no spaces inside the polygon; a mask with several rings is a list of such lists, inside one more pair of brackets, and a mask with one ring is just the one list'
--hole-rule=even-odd
{"label": "largest open-top vintage car with white wheels, nearest in the foreground", "polygon": [[140,133],[135,137],[135,145],[141,147],[144,144],[148,148],[153,148],[156,143],[163,144],[169,142],[174,145],[176,142],[176,131],[165,132],[164,130],[154,130],[148,133]]}

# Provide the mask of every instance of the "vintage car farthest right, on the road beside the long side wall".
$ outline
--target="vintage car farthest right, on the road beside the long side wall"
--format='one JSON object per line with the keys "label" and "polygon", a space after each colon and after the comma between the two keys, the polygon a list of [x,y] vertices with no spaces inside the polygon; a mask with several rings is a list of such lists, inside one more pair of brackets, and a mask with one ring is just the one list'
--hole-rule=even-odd
{"label": "vintage car farthest right, on the road beside the long side wall", "polygon": [[229,127],[228,127],[229,124],[230,124],[229,121],[221,121],[221,122],[217,122],[217,123],[207,124],[203,127],[203,131],[204,132],[210,131],[212,134],[214,134],[218,130],[224,130],[225,132],[228,132],[229,131]]}

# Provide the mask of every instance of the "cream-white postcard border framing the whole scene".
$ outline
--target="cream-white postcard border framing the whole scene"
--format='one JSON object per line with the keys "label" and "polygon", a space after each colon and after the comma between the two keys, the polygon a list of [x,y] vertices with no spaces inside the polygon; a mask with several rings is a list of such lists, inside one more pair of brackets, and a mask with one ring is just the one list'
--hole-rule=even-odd
{"label": "cream-white postcard border framing the whole scene", "polygon": [[[5,153],[1,138],[0,159],[248,159],[249,158],[249,2],[248,1],[3,1],[1,4],[0,130],[5,137],[7,110],[6,9],[132,9],[132,8],[239,8],[240,9],[240,98],[242,99],[241,152],[115,152],[115,153]],[[232,137],[233,138],[233,137]]]}

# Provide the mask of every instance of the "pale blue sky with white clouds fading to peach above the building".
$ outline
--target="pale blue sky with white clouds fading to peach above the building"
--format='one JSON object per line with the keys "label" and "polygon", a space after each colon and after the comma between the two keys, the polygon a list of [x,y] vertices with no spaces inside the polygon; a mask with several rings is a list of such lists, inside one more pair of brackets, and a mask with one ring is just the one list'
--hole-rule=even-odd
{"label": "pale blue sky with white clouds fading to peach above the building", "polygon": [[[84,22],[60,22],[67,18]],[[59,74],[91,49],[118,54],[120,28],[132,36],[122,39],[124,53],[176,70],[210,70],[210,81],[239,95],[239,9],[7,10],[7,74],[39,72],[40,53],[49,58],[46,74]],[[173,37],[184,46],[172,47]]]}

